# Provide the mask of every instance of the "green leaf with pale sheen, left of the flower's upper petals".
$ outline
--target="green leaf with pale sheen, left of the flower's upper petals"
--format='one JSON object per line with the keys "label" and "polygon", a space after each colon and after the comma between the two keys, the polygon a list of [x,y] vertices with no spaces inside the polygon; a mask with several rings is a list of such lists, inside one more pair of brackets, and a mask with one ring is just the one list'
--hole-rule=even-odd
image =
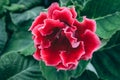
{"label": "green leaf with pale sheen, left of the flower's upper petals", "polygon": [[20,27],[30,27],[32,21],[40,14],[41,11],[43,11],[43,7],[35,7],[23,13],[11,13],[10,15],[15,25]]}

